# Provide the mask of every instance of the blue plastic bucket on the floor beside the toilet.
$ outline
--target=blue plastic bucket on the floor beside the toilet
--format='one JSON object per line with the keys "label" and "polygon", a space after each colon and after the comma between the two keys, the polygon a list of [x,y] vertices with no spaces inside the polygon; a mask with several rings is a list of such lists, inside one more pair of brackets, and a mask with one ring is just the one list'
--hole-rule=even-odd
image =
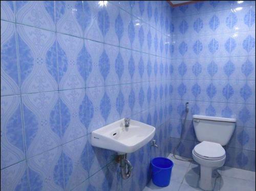
{"label": "blue plastic bucket on the floor beside the toilet", "polygon": [[164,157],[152,159],[152,181],[160,187],[168,186],[174,163],[172,160]]}

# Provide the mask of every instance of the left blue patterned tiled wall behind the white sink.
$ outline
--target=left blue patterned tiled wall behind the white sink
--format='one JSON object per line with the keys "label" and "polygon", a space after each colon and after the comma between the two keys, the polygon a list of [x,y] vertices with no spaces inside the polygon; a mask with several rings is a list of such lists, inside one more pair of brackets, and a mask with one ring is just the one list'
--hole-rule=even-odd
{"label": "left blue patterned tiled wall behind the white sink", "polygon": [[[171,8],[165,1],[1,1],[1,189],[141,190],[168,153]],[[123,117],[157,128],[129,159],[91,132]],[[161,141],[160,141],[161,140]]]}

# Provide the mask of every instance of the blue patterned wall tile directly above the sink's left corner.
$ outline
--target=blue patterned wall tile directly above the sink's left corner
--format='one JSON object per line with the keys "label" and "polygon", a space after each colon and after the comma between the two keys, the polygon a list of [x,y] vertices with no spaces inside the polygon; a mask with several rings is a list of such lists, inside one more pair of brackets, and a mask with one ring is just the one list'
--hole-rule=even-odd
{"label": "blue patterned wall tile directly above the sink's left corner", "polygon": [[86,115],[88,116],[88,133],[105,125],[105,93],[104,87],[93,87],[86,90],[87,107]]}

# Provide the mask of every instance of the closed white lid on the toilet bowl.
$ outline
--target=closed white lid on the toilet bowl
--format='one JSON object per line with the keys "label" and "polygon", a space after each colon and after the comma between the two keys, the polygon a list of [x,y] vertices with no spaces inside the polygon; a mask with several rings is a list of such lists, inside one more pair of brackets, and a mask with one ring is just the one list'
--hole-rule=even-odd
{"label": "closed white lid on the toilet bowl", "polygon": [[225,150],[220,144],[209,141],[203,141],[196,145],[194,152],[198,157],[209,160],[219,160],[226,155]]}

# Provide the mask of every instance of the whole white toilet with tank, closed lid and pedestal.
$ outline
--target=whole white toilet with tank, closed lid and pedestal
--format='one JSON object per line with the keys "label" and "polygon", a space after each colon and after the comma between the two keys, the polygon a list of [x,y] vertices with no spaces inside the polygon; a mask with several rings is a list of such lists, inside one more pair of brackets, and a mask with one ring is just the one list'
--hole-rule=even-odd
{"label": "whole white toilet with tank, closed lid and pedestal", "polygon": [[212,171],[225,163],[225,146],[236,126],[235,118],[193,115],[193,125],[200,144],[192,151],[193,158],[200,164],[199,186],[212,190]]}

